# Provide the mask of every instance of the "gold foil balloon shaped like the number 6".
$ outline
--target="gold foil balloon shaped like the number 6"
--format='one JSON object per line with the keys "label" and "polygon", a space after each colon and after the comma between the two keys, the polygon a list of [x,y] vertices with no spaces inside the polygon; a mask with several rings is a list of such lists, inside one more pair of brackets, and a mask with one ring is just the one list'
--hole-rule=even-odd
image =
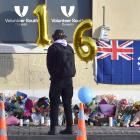
{"label": "gold foil balloon shaped like the number 6", "polygon": [[[73,44],[77,55],[81,60],[88,62],[93,60],[97,53],[97,47],[95,41],[88,36],[84,36],[85,31],[92,28],[92,20],[85,19],[78,24],[73,35]],[[88,47],[88,51],[83,49],[83,46]]]}

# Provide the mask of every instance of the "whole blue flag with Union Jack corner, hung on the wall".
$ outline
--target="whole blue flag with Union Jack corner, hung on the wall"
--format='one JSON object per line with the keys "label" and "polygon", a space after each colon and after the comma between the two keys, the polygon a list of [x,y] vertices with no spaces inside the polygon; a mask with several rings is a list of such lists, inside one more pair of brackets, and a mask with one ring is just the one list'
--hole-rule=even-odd
{"label": "whole blue flag with Union Jack corner, hung on the wall", "polygon": [[140,84],[140,40],[97,41],[97,46],[97,83]]}

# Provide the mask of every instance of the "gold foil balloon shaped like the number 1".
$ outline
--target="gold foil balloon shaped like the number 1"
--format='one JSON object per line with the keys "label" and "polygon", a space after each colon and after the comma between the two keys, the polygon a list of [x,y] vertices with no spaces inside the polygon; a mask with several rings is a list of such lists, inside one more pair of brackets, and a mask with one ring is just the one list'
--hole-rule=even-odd
{"label": "gold foil balloon shaped like the number 1", "polygon": [[46,4],[37,5],[33,14],[38,17],[38,38],[37,45],[45,47],[51,43],[48,37],[48,18],[47,18],[47,7]]}

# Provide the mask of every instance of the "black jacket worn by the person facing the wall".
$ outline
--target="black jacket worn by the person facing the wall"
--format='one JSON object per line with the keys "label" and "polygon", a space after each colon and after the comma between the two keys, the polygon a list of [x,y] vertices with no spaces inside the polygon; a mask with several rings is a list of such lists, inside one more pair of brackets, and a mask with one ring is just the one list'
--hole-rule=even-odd
{"label": "black jacket worn by the person facing the wall", "polygon": [[70,45],[52,44],[48,49],[46,61],[50,79],[75,76],[74,51]]}

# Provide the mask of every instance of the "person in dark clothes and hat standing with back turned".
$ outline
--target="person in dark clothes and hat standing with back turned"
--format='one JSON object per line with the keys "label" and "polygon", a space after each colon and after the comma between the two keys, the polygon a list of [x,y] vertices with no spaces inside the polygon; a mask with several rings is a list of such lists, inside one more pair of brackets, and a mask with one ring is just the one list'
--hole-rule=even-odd
{"label": "person in dark clothes and hat standing with back turned", "polygon": [[63,30],[55,30],[52,38],[54,43],[48,48],[47,68],[50,74],[50,131],[48,135],[55,135],[58,125],[58,107],[60,96],[64,106],[66,117],[66,128],[60,134],[72,134],[72,97],[73,82],[75,76],[75,58],[72,47],[67,43],[66,35]]}

